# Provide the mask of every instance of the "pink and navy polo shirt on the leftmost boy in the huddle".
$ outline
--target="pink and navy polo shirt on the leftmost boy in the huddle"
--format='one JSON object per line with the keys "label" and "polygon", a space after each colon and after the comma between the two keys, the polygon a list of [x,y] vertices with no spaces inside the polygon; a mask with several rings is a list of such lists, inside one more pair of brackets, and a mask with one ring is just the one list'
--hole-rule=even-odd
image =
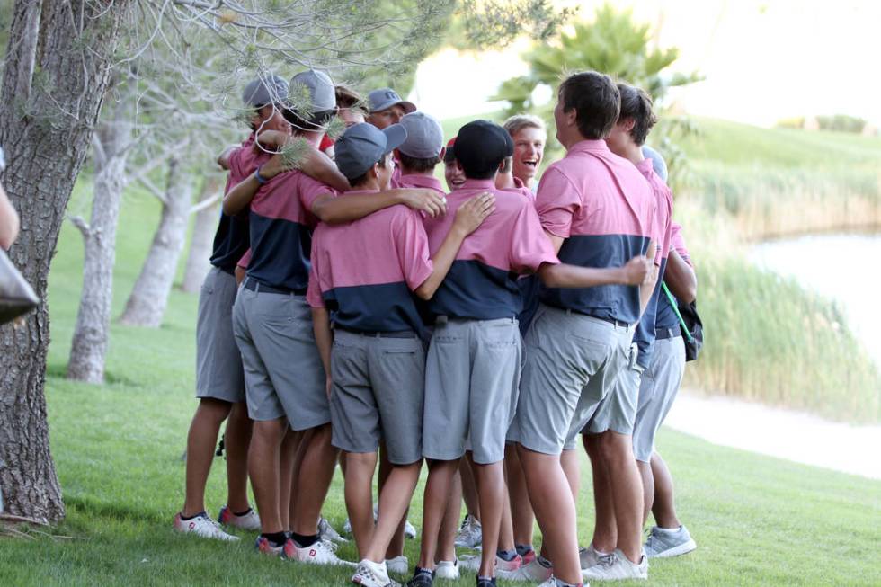
{"label": "pink and navy polo shirt on the leftmost boy in the huddle", "polygon": [[[229,156],[229,174],[224,193],[236,187],[240,182],[254,173],[260,165],[268,161],[270,156],[254,148],[254,133]],[[248,212],[243,210],[236,216],[227,216],[220,212],[218,230],[214,234],[214,247],[211,253],[211,264],[220,270],[232,273],[236,262],[242,258],[249,245]]]}

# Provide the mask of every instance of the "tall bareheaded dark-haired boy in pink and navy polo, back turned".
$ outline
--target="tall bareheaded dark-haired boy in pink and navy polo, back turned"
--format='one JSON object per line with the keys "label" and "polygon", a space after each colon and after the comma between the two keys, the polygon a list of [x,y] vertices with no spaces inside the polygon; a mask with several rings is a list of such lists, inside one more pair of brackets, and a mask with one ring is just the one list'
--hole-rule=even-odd
{"label": "tall bareheaded dark-haired boy in pink and navy polo, back turned", "polygon": [[[560,84],[554,119],[566,156],[541,178],[536,208],[560,259],[582,267],[610,267],[650,251],[656,199],[634,165],[603,141],[618,120],[620,93],[609,76],[585,72]],[[547,587],[583,582],[574,498],[560,453],[583,430],[615,378],[634,357],[630,343],[654,289],[642,286],[591,289],[544,287],[542,303],[526,337],[527,360],[512,437],[548,551]],[[645,578],[639,519],[642,490],[629,437],[612,435],[602,451],[610,463],[615,507],[626,512],[614,555],[627,576]],[[618,507],[620,506],[620,507]],[[539,564],[542,561],[537,559]]]}

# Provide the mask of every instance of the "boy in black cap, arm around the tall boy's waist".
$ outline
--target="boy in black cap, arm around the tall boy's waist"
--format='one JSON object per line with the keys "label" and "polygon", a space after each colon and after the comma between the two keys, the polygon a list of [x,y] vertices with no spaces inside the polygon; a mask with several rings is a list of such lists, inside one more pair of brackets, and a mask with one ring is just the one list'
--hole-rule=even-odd
{"label": "boy in black cap, arm around the tall boy's waist", "polygon": [[[407,583],[409,587],[433,584],[434,554],[449,482],[467,444],[483,525],[484,556],[477,587],[495,584],[504,444],[521,369],[516,316],[522,299],[517,275],[538,272],[542,280],[557,288],[589,288],[639,283],[648,273],[645,258],[632,260],[627,268],[599,271],[560,264],[532,201],[495,188],[495,176],[504,158],[512,154],[511,138],[499,125],[487,120],[468,123],[459,129],[455,150],[467,180],[460,190],[448,194],[449,211],[481,191],[495,193],[496,209],[465,239],[429,303],[436,316],[425,368],[423,412],[423,456],[429,462],[429,478],[423,499],[420,562]],[[449,213],[425,220],[430,250],[438,249],[451,223]]]}

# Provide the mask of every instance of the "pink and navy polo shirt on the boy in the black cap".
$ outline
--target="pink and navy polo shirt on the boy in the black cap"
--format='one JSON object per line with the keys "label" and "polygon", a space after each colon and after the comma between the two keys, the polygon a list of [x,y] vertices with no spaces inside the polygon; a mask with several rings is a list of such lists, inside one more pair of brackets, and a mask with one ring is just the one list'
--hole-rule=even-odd
{"label": "pink and navy polo shirt on the boy in the black cap", "polygon": [[497,190],[493,180],[466,180],[447,194],[445,216],[424,219],[432,254],[441,248],[458,207],[485,191],[495,194],[495,210],[462,243],[429,301],[432,315],[474,320],[517,316],[523,308],[518,275],[538,271],[542,263],[559,263],[532,201]]}

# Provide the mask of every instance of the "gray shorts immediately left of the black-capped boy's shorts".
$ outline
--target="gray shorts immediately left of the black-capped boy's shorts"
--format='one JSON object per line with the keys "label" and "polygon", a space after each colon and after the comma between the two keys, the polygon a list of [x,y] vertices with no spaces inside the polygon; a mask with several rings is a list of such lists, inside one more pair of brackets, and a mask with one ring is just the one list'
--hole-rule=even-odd
{"label": "gray shorts immediately left of the black-capped boy's shorts", "polygon": [[334,447],[376,452],[409,465],[423,457],[423,342],[336,330],[331,351],[330,410]]}

